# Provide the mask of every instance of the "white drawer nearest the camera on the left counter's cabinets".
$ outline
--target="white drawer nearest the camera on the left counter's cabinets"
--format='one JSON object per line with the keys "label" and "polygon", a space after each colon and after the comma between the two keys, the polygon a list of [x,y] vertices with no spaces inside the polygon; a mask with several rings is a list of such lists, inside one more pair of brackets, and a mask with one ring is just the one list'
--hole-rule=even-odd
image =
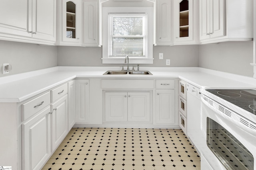
{"label": "white drawer nearest the camera on the left counter's cabinets", "polygon": [[41,96],[26,102],[21,105],[22,108],[22,121],[25,121],[44,107],[50,104],[50,92],[42,94]]}

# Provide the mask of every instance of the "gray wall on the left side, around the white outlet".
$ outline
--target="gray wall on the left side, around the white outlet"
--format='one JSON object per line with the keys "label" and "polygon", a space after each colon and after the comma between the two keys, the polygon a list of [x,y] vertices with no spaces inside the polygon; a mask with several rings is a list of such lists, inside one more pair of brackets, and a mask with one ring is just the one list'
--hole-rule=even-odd
{"label": "gray wall on the left side, around the white outlet", "polygon": [[[2,74],[4,63],[12,65],[12,71]],[[57,66],[57,47],[12,41],[0,41],[0,76],[39,70]]]}

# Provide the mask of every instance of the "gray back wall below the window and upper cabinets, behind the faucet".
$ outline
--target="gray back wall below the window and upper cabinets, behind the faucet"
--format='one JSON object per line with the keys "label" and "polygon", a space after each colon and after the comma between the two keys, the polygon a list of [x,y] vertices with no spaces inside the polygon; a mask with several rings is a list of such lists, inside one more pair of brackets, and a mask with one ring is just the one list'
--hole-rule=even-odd
{"label": "gray back wall below the window and upper cabinets, behind the faucet", "polygon": [[[164,53],[164,59],[159,59]],[[102,64],[101,47],[58,47],[58,66],[122,66],[126,64]],[[198,66],[198,45],[155,46],[154,64],[140,66],[166,66],[170,59],[175,67]],[[136,64],[130,64],[131,66]]]}

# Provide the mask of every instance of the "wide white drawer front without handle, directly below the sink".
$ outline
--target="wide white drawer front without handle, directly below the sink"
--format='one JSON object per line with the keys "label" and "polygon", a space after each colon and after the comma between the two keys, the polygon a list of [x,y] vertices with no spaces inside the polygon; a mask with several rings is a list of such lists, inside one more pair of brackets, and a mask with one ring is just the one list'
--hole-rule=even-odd
{"label": "wide white drawer front without handle, directly below the sink", "polygon": [[102,88],[106,89],[152,89],[154,80],[102,80]]}

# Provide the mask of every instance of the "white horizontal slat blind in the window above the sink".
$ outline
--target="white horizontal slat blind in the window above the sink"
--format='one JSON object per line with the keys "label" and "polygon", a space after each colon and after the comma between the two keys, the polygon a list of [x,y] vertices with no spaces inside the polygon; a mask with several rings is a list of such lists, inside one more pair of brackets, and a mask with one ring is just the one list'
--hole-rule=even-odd
{"label": "white horizontal slat blind in the window above the sink", "polygon": [[145,57],[146,14],[109,14],[109,57]]}

